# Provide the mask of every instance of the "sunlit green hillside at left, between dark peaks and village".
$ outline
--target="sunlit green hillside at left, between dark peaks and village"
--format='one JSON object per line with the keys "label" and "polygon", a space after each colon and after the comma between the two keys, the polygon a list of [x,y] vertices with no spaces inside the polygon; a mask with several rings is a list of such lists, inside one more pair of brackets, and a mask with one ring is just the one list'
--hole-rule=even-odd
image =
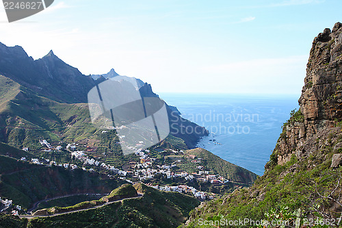
{"label": "sunlit green hillside at left, between dark peaks and village", "polygon": [[79,140],[91,138],[95,131],[88,104],[58,103],[0,75],[1,141],[38,149],[40,138]]}

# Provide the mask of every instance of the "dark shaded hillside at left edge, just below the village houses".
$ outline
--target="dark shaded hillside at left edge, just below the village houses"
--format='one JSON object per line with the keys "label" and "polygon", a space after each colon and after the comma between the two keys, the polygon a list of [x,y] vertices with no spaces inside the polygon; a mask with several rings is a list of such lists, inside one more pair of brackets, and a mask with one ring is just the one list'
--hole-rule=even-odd
{"label": "dark shaded hillside at left edge, just below the village houses", "polygon": [[29,208],[42,199],[75,193],[108,193],[121,181],[81,169],[38,166],[0,155],[0,195]]}

